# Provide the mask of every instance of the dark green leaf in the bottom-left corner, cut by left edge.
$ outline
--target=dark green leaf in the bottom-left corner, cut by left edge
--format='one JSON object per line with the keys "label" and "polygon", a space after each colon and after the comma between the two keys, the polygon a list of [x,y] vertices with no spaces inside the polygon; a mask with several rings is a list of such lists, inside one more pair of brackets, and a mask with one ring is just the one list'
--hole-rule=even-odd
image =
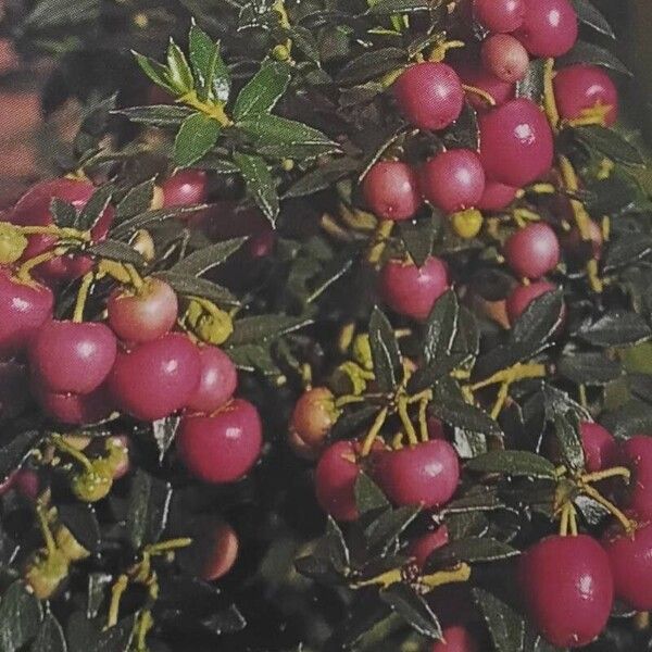
{"label": "dark green leaf in the bottom-left corner, cut by left edge", "polygon": [[36,636],[40,619],[39,601],[22,581],[14,581],[0,599],[0,650],[21,650]]}

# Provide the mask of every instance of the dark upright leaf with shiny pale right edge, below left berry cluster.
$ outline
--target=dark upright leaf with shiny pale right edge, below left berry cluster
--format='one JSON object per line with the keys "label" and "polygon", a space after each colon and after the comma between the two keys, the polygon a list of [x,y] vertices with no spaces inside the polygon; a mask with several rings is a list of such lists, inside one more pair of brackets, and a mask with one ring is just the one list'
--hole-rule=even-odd
{"label": "dark upright leaf with shiny pale right edge, below left berry cluster", "polygon": [[129,492],[126,529],[134,550],[156,543],[167,525],[172,486],[141,471],[136,472]]}

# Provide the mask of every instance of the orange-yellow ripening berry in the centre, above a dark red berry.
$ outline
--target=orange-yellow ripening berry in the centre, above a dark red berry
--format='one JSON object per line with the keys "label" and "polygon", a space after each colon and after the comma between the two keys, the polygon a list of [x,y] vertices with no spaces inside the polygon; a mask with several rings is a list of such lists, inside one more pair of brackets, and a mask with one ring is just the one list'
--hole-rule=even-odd
{"label": "orange-yellow ripening berry in the centre, above a dark red berry", "polygon": [[290,418],[292,450],[308,460],[316,459],[338,416],[335,397],[328,388],[315,387],[303,392]]}

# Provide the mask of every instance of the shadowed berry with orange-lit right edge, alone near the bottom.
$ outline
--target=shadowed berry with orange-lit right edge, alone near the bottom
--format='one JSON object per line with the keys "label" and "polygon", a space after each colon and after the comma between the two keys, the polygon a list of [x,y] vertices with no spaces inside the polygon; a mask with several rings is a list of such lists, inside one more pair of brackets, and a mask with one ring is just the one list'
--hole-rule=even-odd
{"label": "shadowed berry with orange-lit right edge, alone near the bottom", "polygon": [[183,566],[204,581],[215,581],[227,575],[238,559],[239,541],[236,530],[215,516],[198,516],[185,527],[192,539],[178,552]]}

